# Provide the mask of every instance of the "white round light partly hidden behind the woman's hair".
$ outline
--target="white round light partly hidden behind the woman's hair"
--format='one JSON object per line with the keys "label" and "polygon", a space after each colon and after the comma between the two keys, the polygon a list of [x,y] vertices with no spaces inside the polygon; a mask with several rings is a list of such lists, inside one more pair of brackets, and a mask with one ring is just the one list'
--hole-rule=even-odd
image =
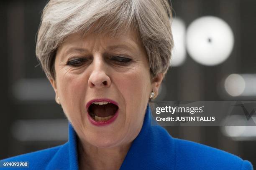
{"label": "white round light partly hidden behind the woman's hair", "polygon": [[183,20],[174,18],[172,21],[174,48],[172,50],[171,66],[182,65],[186,59],[185,32],[186,27]]}

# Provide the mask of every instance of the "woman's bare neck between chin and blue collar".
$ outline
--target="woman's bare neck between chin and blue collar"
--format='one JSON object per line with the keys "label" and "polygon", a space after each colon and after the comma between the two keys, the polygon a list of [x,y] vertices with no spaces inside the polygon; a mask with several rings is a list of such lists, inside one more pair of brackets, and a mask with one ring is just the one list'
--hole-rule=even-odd
{"label": "woman's bare neck between chin and blue collar", "polygon": [[99,148],[78,140],[79,170],[119,170],[131,143],[114,148]]}

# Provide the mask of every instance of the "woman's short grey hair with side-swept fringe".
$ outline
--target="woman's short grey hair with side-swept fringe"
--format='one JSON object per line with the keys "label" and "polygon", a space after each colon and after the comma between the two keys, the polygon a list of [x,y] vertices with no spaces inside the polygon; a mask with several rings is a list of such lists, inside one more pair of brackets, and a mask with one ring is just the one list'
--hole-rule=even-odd
{"label": "woman's short grey hair with side-swept fringe", "polygon": [[[135,30],[148,57],[151,77],[166,73],[174,45],[172,10],[167,0],[50,0],[44,7],[36,57],[48,79],[56,78],[57,48],[76,32]],[[120,32],[120,31],[119,31]]]}

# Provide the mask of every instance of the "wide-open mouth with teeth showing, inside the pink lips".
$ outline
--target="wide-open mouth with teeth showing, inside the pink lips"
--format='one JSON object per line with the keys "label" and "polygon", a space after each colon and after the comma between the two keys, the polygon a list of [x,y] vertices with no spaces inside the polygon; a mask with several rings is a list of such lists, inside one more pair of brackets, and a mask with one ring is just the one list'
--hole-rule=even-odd
{"label": "wide-open mouth with teeth showing, inside the pink lips", "polygon": [[88,108],[88,113],[96,122],[107,122],[116,114],[118,106],[107,102],[92,102]]}

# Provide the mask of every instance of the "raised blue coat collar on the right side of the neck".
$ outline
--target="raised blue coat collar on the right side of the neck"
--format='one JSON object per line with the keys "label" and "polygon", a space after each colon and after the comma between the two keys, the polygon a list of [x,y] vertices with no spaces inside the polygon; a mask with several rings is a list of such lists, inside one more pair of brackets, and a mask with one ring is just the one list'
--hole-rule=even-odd
{"label": "raised blue coat collar on the right side of the neck", "polygon": [[174,170],[174,139],[154,120],[149,105],[141,132],[133,141],[120,170]]}

